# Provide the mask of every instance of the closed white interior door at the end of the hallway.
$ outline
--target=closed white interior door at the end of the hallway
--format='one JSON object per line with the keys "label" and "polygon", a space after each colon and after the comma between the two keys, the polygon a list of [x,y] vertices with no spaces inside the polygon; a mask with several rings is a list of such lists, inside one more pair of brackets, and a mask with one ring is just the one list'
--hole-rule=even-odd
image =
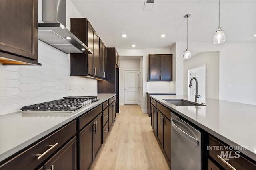
{"label": "closed white interior door at the end of the hallway", "polygon": [[139,104],[138,77],[138,70],[124,70],[124,104]]}

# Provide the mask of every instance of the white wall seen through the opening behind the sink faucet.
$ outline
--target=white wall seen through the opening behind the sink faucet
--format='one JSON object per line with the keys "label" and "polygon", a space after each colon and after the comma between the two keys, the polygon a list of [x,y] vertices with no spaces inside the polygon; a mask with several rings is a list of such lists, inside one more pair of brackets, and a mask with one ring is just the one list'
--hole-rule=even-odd
{"label": "white wall seen through the opening behind the sink faucet", "polygon": [[[219,53],[200,53],[190,59],[184,60],[184,95],[188,94],[188,70],[206,64],[206,97],[219,99]],[[193,82],[194,83],[194,82]],[[198,80],[198,93],[200,84]],[[203,96],[202,96],[203,97]]]}

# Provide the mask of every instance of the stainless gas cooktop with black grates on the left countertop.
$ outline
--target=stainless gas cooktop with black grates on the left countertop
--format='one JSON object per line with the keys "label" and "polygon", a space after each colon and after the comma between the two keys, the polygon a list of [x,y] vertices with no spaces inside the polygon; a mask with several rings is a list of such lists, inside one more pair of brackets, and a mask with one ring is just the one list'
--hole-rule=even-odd
{"label": "stainless gas cooktop with black grates on the left countertop", "polygon": [[97,96],[68,96],[63,99],[53,100],[29,106],[23,106],[22,111],[67,111],[73,112],[92,102],[96,102]]}

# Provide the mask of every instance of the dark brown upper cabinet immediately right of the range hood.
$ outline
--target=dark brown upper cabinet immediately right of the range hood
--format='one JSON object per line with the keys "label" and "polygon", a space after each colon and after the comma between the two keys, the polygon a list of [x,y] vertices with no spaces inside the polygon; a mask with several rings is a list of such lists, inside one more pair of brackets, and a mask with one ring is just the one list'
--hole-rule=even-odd
{"label": "dark brown upper cabinet immediately right of the range hood", "polygon": [[70,18],[70,31],[78,37],[93,54],[70,54],[70,76],[101,77],[99,70],[100,38],[87,18]]}

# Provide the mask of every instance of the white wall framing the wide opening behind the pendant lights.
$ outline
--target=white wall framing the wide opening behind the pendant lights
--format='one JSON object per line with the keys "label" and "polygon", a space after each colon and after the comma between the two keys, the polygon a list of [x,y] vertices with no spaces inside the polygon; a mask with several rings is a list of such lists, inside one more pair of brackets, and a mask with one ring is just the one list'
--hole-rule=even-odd
{"label": "white wall framing the wide opening behind the pendant lights", "polygon": [[[256,105],[256,43],[189,43],[191,51],[219,51],[220,100]],[[176,94],[183,95],[183,54],[186,43],[176,43]],[[182,79],[178,80],[178,77]],[[227,88],[232,84],[232,88]]]}

